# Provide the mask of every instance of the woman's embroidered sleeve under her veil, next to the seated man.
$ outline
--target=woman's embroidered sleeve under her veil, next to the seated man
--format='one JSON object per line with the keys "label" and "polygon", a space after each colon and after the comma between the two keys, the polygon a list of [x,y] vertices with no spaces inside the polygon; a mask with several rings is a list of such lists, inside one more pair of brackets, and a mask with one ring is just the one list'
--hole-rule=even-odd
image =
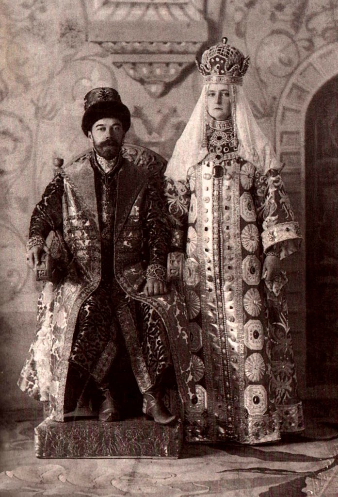
{"label": "woman's embroidered sleeve under her veil, next to the seated man", "polygon": [[171,250],[184,251],[190,206],[189,182],[165,178],[165,196],[171,225]]}

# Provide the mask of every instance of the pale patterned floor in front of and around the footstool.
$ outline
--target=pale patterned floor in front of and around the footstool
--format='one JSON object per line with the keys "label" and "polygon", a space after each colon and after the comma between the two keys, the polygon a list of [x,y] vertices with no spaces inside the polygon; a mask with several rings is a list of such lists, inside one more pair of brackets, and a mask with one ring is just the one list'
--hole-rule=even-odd
{"label": "pale patterned floor in front of and around the footstool", "polygon": [[34,424],[2,423],[1,496],[338,496],[334,423],[307,420],[304,436],[273,445],[191,444],[179,460],[36,459]]}

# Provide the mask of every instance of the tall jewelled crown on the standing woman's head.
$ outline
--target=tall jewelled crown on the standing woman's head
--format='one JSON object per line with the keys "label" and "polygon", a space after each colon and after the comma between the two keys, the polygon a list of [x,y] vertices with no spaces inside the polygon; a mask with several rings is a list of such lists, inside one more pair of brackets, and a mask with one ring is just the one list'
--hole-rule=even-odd
{"label": "tall jewelled crown on the standing woman's head", "polygon": [[203,52],[201,62],[196,60],[204,83],[243,83],[250,57],[244,57],[240,50],[228,45],[227,41],[227,38],[223,38],[222,43]]}

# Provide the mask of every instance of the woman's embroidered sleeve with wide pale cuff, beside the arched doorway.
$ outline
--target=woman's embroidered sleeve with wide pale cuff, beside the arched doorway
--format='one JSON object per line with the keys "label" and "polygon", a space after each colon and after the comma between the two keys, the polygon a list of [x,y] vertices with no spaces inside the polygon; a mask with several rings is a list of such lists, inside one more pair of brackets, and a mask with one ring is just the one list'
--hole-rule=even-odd
{"label": "woman's embroidered sleeve with wide pale cuff, beside the arched doorway", "polygon": [[256,171],[254,188],[264,252],[276,248],[282,259],[299,249],[302,236],[280,172],[276,169],[266,174]]}

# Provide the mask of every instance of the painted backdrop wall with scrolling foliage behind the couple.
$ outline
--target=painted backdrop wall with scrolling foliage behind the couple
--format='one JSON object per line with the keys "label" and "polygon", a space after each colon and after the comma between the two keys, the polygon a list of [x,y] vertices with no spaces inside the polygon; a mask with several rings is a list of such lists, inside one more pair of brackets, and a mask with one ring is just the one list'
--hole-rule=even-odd
{"label": "painted backdrop wall with scrolling foliage behind the couple", "polygon": [[[337,11],[338,0],[2,0],[0,396],[4,410],[27,414],[36,406],[15,385],[34,335],[40,287],[26,266],[25,242],[32,209],[54,174],[53,155],[67,161],[87,147],[80,129],[84,94],[95,86],[117,88],[132,112],[128,141],[168,159],[201,90],[194,54],[226,35],[251,57],[245,89],[263,131],[275,141],[283,89],[307,58],[338,41]],[[284,179],[305,232],[304,195],[292,167],[286,165]],[[287,269],[295,356],[304,393],[303,262],[304,254],[295,255]]]}

